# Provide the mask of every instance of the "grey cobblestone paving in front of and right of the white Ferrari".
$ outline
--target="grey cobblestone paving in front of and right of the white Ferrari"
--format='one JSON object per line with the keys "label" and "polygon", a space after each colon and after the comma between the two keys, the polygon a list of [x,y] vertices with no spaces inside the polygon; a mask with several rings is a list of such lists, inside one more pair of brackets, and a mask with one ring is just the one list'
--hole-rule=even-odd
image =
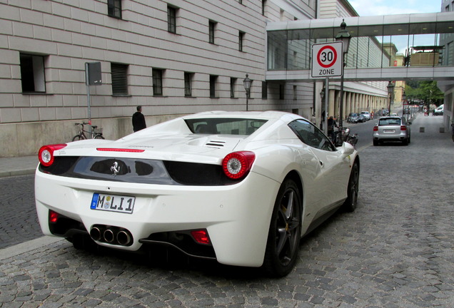
{"label": "grey cobblestone paving in front of and right of the white Ferrari", "polygon": [[305,237],[287,277],[61,240],[0,253],[0,307],[454,307],[454,143],[441,120],[418,116],[408,146],[360,149],[357,210]]}

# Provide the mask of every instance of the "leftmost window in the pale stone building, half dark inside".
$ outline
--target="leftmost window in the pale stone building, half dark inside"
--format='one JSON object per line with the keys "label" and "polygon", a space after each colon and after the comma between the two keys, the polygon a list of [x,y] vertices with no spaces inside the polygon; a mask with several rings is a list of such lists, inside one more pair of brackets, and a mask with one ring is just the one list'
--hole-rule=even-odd
{"label": "leftmost window in the pale stone building, half dark inside", "polygon": [[20,53],[22,92],[46,93],[44,56]]}

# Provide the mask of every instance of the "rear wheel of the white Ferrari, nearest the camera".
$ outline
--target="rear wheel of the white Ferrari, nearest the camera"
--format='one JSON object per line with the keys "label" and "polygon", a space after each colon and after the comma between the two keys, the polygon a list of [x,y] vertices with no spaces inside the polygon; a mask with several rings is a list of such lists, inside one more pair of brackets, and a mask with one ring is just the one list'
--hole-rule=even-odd
{"label": "rear wheel of the white Ferrari, nearest the camera", "polygon": [[286,276],[295,266],[301,239],[301,193],[293,180],[284,180],[271,215],[264,270],[272,277]]}

